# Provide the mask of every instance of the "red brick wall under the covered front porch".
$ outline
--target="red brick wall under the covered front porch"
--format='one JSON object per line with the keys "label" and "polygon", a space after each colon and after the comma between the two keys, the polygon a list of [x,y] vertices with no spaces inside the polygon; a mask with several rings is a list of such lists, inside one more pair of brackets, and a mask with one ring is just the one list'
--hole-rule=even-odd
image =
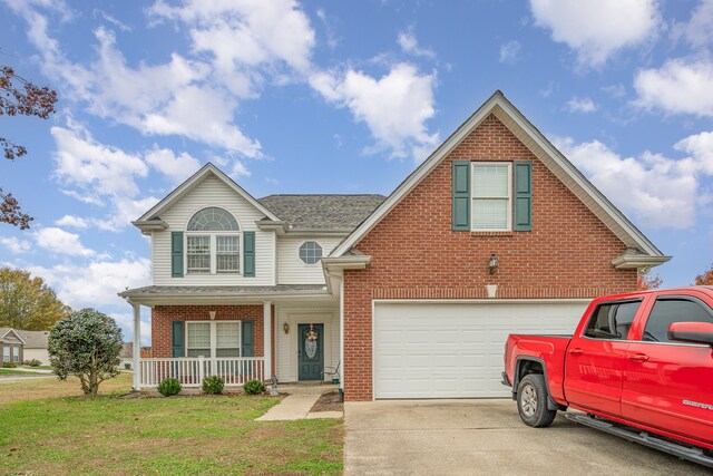
{"label": "red brick wall under the covered front porch", "polygon": [[[255,357],[263,357],[263,307],[258,305],[156,305],[152,310],[152,354],[170,357],[170,323],[173,321],[209,321],[209,311],[216,311],[215,320],[254,321]],[[275,329],[275,307],[271,308],[272,329]],[[272,373],[275,373],[275,343],[272,346]]]}

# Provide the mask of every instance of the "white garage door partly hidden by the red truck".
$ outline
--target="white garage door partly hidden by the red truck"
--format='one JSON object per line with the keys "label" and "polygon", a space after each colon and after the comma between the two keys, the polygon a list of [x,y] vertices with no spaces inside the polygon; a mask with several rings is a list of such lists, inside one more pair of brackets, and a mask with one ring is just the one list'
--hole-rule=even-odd
{"label": "white garage door partly hidden by the red truck", "polygon": [[509,333],[573,333],[588,302],[374,303],[374,398],[507,397]]}

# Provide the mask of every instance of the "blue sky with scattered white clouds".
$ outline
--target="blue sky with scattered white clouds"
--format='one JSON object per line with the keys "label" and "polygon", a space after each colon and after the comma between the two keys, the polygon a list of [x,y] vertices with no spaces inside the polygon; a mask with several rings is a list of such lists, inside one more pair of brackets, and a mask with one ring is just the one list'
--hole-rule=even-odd
{"label": "blue sky with scattered white clouds", "polygon": [[[713,262],[713,0],[0,0],[0,65],[59,95],[0,117],[0,265],[114,317],[130,225],[207,162],[253,196],[390,194],[497,89],[674,259]],[[143,310],[141,338],[150,339]]]}

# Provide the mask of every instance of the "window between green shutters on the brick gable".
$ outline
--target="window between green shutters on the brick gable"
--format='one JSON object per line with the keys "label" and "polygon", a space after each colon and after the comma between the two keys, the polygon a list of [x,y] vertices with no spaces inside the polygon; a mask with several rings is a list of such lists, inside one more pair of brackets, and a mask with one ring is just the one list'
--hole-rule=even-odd
{"label": "window between green shutters on the brick gable", "polygon": [[512,164],[472,163],[472,230],[512,230]]}

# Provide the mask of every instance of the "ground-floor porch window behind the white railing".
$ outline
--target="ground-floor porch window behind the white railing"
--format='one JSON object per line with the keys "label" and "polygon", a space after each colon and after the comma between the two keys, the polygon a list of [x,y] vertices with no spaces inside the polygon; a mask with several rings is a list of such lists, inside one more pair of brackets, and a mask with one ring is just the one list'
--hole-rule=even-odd
{"label": "ground-floor porch window behind the white railing", "polygon": [[186,322],[187,357],[241,357],[241,321]]}

